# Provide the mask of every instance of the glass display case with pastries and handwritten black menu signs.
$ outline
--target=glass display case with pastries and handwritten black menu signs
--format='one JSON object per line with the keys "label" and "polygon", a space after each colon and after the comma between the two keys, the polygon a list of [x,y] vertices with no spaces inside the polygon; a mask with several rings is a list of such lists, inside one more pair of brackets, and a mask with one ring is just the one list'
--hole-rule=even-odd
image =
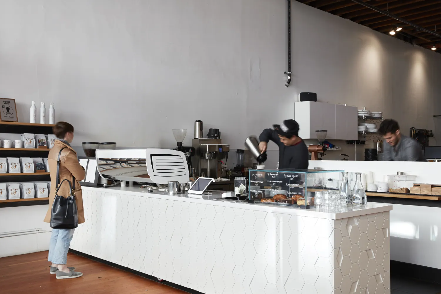
{"label": "glass display case with pastries and handwritten black menu signs", "polygon": [[329,170],[249,170],[249,202],[314,208],[318,190],[339,188],[342,171]]}

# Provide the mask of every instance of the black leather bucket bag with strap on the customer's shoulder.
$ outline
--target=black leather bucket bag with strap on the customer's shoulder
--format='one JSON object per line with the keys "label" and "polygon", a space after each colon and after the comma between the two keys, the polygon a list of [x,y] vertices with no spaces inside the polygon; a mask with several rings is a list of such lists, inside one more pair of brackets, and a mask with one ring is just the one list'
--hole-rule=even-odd
{"label": "black leather bucket bag with strap on the customer's shoulder", "polygon": [[[67,147],[64,147],[63,149],[66,148]],[[52,203],[50,226],[53,229],[75,229],[78,227],[78,210],[75,202],[75,177],[72,176],[72,184],[68,179],[64,179],[60,182],[60,157],[63,149],[60,150],[56,163],[55,199]],[[64,182],[69,184],[70,195],[67,196],[67,198],[58,195],[58,190],[60,190]],[[58,186],[59,183],[60,186]]]}

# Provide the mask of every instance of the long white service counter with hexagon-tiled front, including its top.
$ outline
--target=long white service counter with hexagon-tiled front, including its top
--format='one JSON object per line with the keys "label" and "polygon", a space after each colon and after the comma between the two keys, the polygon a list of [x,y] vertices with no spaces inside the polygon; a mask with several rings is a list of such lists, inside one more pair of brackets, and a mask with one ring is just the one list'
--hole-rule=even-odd
{"label": "long white service counter with hexagon-tiled front, including its top", "polygon": [[[143,189],[141,189],[143,190]],[[83,187],[74,252],[205,294],[390,294],[389,210]]]}

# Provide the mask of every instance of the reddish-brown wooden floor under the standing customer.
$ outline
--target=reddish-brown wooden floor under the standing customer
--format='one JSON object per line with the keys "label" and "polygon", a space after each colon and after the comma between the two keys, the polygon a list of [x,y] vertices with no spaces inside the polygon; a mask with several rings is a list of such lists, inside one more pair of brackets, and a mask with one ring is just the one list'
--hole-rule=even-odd
{"label": "reddish-brown wooden floor under the standing customer", "polygon": [[186,293],[73,253],[67,255],[67,266],[75,267],[83,276],[56,279],[55,275],[49,274],[47,260],[47,251],[0,258],[0,293]]}

